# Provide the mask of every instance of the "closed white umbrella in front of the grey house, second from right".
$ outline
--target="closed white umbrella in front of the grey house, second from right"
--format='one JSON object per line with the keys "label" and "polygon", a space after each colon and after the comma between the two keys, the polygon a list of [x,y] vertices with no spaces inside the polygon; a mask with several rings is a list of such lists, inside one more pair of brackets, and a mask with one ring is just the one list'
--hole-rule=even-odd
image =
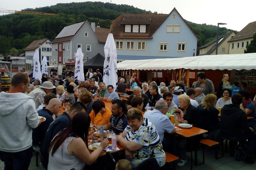
{"label": "closed white umbrella in front of the grey house, second from right", "polygon": [[85,81],[83,59],[84,55],[82,55],[82,49],[79,47],[76,51],[75,81]]}

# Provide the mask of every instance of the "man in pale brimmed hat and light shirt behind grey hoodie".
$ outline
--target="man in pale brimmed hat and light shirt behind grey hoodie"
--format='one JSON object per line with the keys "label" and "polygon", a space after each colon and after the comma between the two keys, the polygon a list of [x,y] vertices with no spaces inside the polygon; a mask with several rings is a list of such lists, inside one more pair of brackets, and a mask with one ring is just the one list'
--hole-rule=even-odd
{"label": "man in pale brimmed hat and light shirt behind grey hoodie", "polygon": [[40,88],[36,88],[35,90],[31,91],[28,96],[34,98],[36,108],[38,108],[38,106],[43,103],[44,96],[51,93],[54,88],[56,87],[52,85],[50,81],[45,81]]}

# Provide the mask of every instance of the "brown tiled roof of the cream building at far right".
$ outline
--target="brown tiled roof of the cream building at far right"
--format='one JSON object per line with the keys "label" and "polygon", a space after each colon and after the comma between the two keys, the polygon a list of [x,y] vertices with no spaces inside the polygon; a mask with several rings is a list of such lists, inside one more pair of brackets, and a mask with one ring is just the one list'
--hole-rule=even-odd
{"label": "brown tiled roof of the cream building at far right", "polygon": [[256,21],[248,23],[240,32],[233,36],[228,42],[234,40],[241,40],[245,38],[251,38],[256,32]]}

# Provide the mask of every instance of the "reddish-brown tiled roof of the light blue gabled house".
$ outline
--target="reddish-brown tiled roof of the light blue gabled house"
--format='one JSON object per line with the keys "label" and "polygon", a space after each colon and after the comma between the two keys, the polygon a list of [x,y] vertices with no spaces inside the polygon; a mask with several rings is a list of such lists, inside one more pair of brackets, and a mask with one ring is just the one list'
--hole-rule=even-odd
{"label": "reddish-brown tiled roof of the light blue gabled house", "polygon": [[[174,8],[172,11],[176,10]],[[162,23],[167,19],[169,14],[122,14],[117,19],[111,22],[110,32],[113,34],[114,38],[153,38],[152,35],[156,30],[162,25]],[[178,11],[176,10],[178,13]],[[180,13],[178,13],[180,15]],[[181,15],[180,15],[181,17]],[[181,17],[182,18],[182,17]],[[183,18],[182,18],[183,19]],[[187,24],[187,22],[183,19]],[[146,33],[127,33],[124,32],[123,24],[145,24],[148,25]],[[193,32],[191,27],[187,24],[189,29]],[[195,33],[193,32],[195,35]],[[196,36],[196,35],[195,35]],[[197,36],[196,36],[197,37]],[[199,38],[197,37],[199,40]]]}

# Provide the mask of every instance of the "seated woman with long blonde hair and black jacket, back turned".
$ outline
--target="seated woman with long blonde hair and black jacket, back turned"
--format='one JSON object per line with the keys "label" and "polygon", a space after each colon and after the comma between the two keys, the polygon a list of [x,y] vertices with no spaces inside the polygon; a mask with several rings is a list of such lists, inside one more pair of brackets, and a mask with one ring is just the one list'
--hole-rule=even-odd
{"label": "seated woman with long blonde hair and black jacket, back turned", "polygon": [[215,104],[216,96],[214,94],[207,94],[204,98],[204,102],[197,107],[202,119],[202,129],[208,130],[209,134],[218,129],[219,125],[219,110],[216,108]]}

